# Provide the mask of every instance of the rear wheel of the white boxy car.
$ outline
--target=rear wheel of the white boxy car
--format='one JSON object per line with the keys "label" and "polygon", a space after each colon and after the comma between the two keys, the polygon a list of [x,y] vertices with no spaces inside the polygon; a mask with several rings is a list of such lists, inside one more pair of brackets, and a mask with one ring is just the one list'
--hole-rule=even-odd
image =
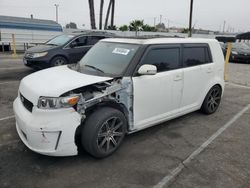
{"label": "rear wheel of the white boxy car", "polygon": [[220,86],[213,86],[207,93],[203,104],[201,106],[201,111],[205,114],[212,114],[216,112],[220,105],[222,90]]}

